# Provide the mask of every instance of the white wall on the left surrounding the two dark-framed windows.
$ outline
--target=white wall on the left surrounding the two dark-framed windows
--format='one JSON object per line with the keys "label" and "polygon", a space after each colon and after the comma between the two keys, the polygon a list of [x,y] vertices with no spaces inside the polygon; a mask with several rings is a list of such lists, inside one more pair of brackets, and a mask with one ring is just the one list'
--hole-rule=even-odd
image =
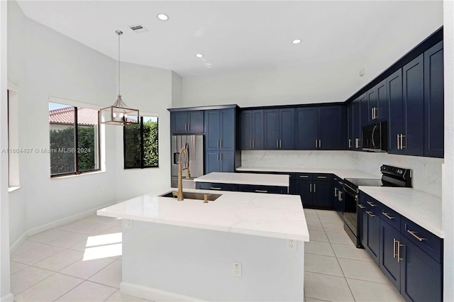
{"label": "white wall on the left surrounding the two dark-framed windows", "polygon": [[[19,94],[19,147],[48,148],[49,98],[110,106],[117,94],[117,63],[26,18],[15,1],[8,5],[8,76]],[[123,63],[121,78],[126,104],[159,116],[160,168],[123,170],[123,132],[113,125],[101,125],[103,172],[51,179],[49,154],[21,155],[22,188],[10,193],[11,243],[153,186],[170,186],[172,72]]]}

